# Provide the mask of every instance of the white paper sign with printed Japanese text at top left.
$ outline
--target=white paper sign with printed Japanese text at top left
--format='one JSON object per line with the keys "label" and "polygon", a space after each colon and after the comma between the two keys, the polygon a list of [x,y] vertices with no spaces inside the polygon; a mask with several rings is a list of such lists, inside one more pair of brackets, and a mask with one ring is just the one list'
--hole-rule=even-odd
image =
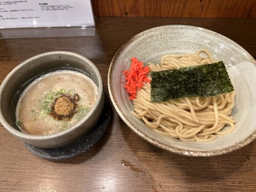
{"label": "white paper sign with printed Japanese text at top left", "polygon": [[95,26],[90,0],[0,1],[0,29]]}

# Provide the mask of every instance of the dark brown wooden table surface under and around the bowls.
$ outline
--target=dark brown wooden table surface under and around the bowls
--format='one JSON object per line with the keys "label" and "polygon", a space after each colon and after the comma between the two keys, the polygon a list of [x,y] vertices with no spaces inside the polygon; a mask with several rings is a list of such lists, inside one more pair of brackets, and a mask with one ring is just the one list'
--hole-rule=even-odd
{"label": "dark brown wooden table surface under and around the bowls", "polygon": [[[64,50],[92,60],[108,94],[110,62],[120,46],[141,31],[174,24],[216,31],[256,56],[255,19],[99,17],[92,37],[0,39],[0,82],[27,58]],[[48,161],[0,124],[0,191],[256,191],[256,141],[221,156],[182,156],[138,137],[113,109],[96,145],[71,159]]]}

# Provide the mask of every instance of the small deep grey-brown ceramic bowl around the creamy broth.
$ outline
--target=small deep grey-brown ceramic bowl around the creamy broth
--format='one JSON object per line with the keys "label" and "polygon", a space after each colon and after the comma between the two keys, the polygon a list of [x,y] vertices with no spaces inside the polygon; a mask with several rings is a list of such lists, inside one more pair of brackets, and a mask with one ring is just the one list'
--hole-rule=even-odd
{"label": "small deep grey-brown ceramic bowl around the creamy broth", "polygon": [[[36,136],[21,132],[15,125],[15,108],[20,93],[35,78],[56,70],[73,70],[89,76],[98,87],[98,97],[86,116],[73,127],[52,135]],[[67,51],[53,51],[31,57],[20,63],[0,86],[0,121],[7,131],[27,144],[53,148],[70,143],[89,132],[97,123],[104,106],[101,75],[86,57]],[[40,126],[38,124],[38,126]]]}

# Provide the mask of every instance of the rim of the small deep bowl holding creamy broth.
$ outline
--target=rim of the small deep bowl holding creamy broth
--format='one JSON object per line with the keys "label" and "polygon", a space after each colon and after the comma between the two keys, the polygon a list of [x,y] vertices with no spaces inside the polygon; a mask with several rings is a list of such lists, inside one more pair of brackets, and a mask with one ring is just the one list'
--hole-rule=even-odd
{"label": "rim of the small deep bowl holding creamy broth", "polygon": [[[70,127],[70,129],[67,129],[67,130],[64,130],[64,131],[61,131],[61,132],[58,132],[58,133],[55,133],[55,134],[51,134],[51,135],[31,135],[31,134],[28,134],[28,133],[25,133],[25,132],[22,132],[22,131],[18,131],[16,129],[14,129],[14,127],[6,121],[6,119],[4,118],[4,115],[2,113],[2,110],[0,110],[0,122],[5,127],[5,129],[8,132],[10,132],[12,135],[14,135],[18,138],[29,139],[29,140],[33,140],[33,141],[58,138],[58,137],[69,134],[70,132],[73,132],[74,130],[78,129],[78,127],[81,124],[83,124],[84,122],[86,122],[91,116],[93,116],[95,111],[97,110],[97,106],[100,104],[101,99],[104,96],[103,95],[103,81],[102,81],[102,77],[100,75],[100,72],[99,72],[98,68],[94,65],[94,63],[91,60],[89,60],[87,57],[84,57],[84,56],[82,56],[78,53],[74,53],[74,52],[70,52],[70,51],[49,51],[49,52],[45,52],[45,53],[40,53],[40,54],[32,56],[32,57],[24,60],[23,62],[19,63],[15,68],[12,69],[12,71],[10,73],[8,73],[8,75],[5,77],[5,79],[1,83],[1,85],[0,85],[0,99],[2,97],[4,87],[7,86],[8,80],[17,71],[19,71],[20,68],[23,68],[25,65],[27,65],[28,62],[31,62],[34,59],[42,58],[42,57],[46,57],[46,56],[50,56],[50,55],[60,55],[60,54],[68,55],[68,56],[75,56],[76,58],[82,59],[82,60],[86,61],[92,67],[92,69],[94,70],[94,72],[96,74],[95,78],[98,81],[98,87],[97,87],[98,88],[98,97],[96,98],[94,107],[77,124]],[[1,102],[0,102],[0,109],[1,109]]]}

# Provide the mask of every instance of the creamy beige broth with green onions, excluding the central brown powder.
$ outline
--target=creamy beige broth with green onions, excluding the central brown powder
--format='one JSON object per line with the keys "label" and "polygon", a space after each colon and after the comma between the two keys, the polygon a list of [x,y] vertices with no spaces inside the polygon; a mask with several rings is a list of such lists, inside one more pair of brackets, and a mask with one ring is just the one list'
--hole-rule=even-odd
{"label": "creamy beige broth with green onions, excluding the central brown powder", "polygon": [[[60,96],[79,96],[72,117],[56,119],[52,103]],[[32,135],[51,135],[69,129],[93,107],[98,88],[88,76],[69,70],[48,73],[34,80],[20,95],[16,106],[16,124]]]}

